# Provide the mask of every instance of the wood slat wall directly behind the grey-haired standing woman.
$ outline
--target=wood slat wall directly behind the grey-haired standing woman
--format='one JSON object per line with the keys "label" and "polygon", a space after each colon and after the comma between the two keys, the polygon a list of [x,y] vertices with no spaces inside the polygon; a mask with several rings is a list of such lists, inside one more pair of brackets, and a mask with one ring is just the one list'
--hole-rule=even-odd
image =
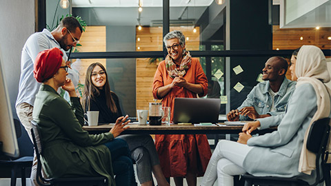
{"label": "wood slat wall directly behind the grey-haired standing woman", "polygon": [[[193,32],[192,27],[175,27],[172,30],[181,30],[186,37],[186,50],[199,50],[199,28]],[[141,30],[136,29],[136,50],[137,51],[155,51],[163,50],[163,28],[143,27]],[[140,41],[138,41],[138,38]],[[150,63],[150,59],[136,60],[136,105],[137,110],[147,109],[148,103],[153,102],[152,83],[154,74],[157,70],[156,63]]]}

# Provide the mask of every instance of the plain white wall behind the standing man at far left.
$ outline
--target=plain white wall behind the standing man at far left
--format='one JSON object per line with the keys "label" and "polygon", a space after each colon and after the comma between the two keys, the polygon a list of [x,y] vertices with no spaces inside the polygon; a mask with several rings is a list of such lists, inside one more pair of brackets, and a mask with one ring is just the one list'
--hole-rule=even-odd
{"label": "plain white wall behind the standing man at far left", "polygon": [[0,1],[1,59],[14,118],[17,118],[14,105],[19,89],[21,50],[26,39],[34,33],[34,22],[34,0]]}

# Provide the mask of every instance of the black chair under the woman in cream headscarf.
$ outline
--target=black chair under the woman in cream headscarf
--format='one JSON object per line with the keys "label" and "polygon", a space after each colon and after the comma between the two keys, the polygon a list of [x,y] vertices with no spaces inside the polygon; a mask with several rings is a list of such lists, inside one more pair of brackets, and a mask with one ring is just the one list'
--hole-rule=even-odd
{"label": "black chair under the woman in cream headscarf", "polygon": [[[307,149],[316,154],[316,181],[313,185],[318,185],[325,181],[325,185],[330,185],[330,165],[327,165],[328,154],[326,147],[330,132],[330,118],[321,118],[312,123],[307,139]],[[321,164],[319,163],[321,161]],[[322,172],[320,172],[320,166]],[[322,176],[323,175],[323,176]],[[322,177],[322,178],[321,178]],[[252,176],[250,174],[241,175],[245,179],[245,186],[249,185],[309,185],[296,177],[281,178],[275,176]]]}

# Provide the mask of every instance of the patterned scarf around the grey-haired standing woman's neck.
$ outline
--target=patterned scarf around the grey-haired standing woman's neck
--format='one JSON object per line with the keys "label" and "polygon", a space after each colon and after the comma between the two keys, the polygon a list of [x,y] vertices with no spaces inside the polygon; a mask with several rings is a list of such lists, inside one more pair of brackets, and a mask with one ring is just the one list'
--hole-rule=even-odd
{"label": "patterned scarf around the grey-haired standing woman's neck", "polygon": [[179,68],[176,67],[174,61],[169,56],[169,54],[165,57],[165,68],[168,71],[168,74],[171,78],[175,78],[177,76],[184,76],[186,71],[191,67],[192,59],[190,52],[184,52],[183,59],[181,59],[181,65]]}

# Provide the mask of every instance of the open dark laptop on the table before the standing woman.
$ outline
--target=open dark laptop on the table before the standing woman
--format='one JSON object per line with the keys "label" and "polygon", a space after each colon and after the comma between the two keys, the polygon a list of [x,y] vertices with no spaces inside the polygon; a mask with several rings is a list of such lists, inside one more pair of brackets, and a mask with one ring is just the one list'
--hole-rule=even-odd
{"label": "open dark laptop on the table before the standing woman", "polygon": [[217,123],[221,99],[174,99],[174,123]]}

